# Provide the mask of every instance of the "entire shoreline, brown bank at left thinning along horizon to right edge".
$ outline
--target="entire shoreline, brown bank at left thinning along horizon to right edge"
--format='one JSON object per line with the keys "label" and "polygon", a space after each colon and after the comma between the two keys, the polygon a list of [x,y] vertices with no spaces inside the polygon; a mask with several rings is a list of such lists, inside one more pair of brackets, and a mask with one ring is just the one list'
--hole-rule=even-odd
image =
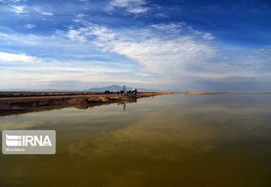
{"label": "entire shoreline, brown bank at left thinning along horizon to right edge", "polygon": [[114,102],[136,102],[156,95],[271,94],[271,92],[138,92],[138,95],[104,95],[103,92],[0,92],[0,116],[64,107],[88,108]]}

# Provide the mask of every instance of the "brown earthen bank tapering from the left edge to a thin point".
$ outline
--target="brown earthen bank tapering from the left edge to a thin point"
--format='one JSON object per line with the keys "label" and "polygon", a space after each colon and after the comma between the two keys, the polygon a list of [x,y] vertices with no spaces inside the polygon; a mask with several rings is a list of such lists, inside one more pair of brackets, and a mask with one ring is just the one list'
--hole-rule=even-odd
{"label": "brown earthen bank tapering from the left edge to a thin point", "polygon": [[171,92],[140,92],[138,95],[62,95],[35,97],[2,97],[0,98],[0,116],[21,114],[63,107],[91,107],[112,102],[135,102],[141,97],[168,95]]}

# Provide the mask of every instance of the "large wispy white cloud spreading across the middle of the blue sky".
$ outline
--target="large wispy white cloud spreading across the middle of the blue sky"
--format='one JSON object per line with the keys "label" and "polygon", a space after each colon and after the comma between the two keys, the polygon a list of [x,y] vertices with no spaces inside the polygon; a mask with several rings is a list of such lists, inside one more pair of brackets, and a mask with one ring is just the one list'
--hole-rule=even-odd
{"label": "large wispy white cloud spreading across the middle of the blue sky", "polygon": [[[182,31],[190,33],[176,35]],[[215,56],[216,50],[202,37],[204,34],[199,36],[183,23],[153,25],[145,31],[127,33],[88,23],[84,28],[70,30],[68,36],[126,56],[149,73],[167,74],[180,73],[185,65],[207,62]]]}

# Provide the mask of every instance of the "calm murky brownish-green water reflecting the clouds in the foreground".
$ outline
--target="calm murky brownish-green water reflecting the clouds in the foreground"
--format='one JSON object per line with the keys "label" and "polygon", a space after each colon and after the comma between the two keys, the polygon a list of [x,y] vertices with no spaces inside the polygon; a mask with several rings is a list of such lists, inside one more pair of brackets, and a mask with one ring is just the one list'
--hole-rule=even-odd
{"label": "calm murky brownish-green water reflecting the clouds in the foreground", "polygon": [[3,129],[54,129],[56,154],[0,154],[0,186],[271,186],[271,95],[163,95]]}

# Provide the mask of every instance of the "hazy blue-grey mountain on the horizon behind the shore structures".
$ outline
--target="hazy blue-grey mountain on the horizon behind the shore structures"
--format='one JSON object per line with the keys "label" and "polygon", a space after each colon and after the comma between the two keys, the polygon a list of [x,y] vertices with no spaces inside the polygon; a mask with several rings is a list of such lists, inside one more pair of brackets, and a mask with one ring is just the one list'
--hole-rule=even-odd
{"label": "hazy blue-grey mountain on the horizon behind the shore structures", "polygon": [[[126,87],[126,90],[132,90],[134,87]],[[145,89],[145,88],[137,88],[138,92],[161,92],[161,90],[154,90],[154,89]],[[123,90],[123,86],[119,85],[111,85],[107,87],[93,87],[88,90],[82,90],[82,92],[104,92],[109,90],[111,92],[117,92],[119,90]]]}

